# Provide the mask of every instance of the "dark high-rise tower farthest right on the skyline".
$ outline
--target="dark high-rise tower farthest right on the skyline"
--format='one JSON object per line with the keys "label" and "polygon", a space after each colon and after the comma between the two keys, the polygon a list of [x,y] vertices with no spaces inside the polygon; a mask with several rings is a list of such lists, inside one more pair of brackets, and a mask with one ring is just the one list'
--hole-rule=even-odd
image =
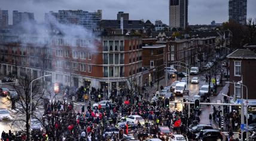
{"label": "dark high-rise tower farthest right on the skyline", "polygon": [[247,16],[247,0],[229,0],[228,3],[229,20],[245,24]]}

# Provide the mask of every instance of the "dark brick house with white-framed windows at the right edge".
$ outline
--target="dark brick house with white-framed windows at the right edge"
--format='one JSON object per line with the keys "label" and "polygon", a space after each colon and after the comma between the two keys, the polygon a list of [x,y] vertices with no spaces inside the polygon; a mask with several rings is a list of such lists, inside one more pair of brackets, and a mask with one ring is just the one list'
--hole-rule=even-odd
{"label": "dark brick house with white-framed windows at the right edge", "polygon": [[[251,47],[250,47],[251,46]],[[238,49],[227,56],[229,60],[230,82],[242,82],[248,88],[248,105],[256,105],[256,44],[247,44],[245,49]],[[249,48],[249,49],[248,49]],[[230,84],[230,96],[246,99],[246,87]],[[242,97],[243,96],[243,97]]]}

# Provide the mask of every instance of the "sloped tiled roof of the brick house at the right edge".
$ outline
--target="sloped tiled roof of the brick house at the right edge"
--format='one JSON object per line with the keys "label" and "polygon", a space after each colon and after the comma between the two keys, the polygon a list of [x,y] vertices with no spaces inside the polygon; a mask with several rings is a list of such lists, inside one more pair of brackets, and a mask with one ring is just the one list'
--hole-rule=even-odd
{"label": "sloped tiled roof of the brick house at the right edge", "polygon": [[228,59],[256,59],[256,53],[252,50],[237,49],[228,54]]}

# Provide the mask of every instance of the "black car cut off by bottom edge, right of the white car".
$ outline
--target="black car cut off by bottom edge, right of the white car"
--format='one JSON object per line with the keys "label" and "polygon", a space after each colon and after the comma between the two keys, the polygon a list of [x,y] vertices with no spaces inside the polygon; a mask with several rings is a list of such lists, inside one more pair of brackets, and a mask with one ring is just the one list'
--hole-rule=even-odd
{"label": "black car cut off by bottom edge, right of the white car", "polygon": [[[223,136],[221,134],[221,131],[219,130],[214,130],[214,129],[206,129],[203,130],[203,136],[202,136],[202,140],[203,141],[221,141],[223,140]],[[200,133],[197,133],[196,139],[200,139],[199,137]]]}

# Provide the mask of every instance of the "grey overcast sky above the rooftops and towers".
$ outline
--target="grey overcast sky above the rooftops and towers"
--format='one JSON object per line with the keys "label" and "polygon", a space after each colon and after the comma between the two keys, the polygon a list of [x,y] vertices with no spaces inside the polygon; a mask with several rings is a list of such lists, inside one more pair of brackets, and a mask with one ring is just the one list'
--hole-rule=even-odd
{"label": "grey overcast sky above the rooftops and towers", "polygon": [[[130,13],[132,20],[162,20],[169,24],[169,0],[0,0],[0,8],[35,13],[38,22],[44,21],[44,13],[57,10],[102,10],[103,19],[116,19],[118,11]],[[256,18],[256,0],[248,0],[247,17]],[[222,23],[228,20],[228,0],[190,0],[189,24]]]}

